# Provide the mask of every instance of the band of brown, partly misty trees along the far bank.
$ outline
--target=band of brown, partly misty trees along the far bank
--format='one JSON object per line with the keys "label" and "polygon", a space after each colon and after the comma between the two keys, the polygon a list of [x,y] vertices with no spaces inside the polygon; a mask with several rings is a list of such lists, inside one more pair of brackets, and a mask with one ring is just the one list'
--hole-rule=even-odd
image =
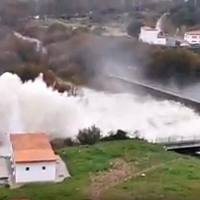
{"label": "band of brown, partly misty trees along the far bank", "polygon": [[37,52],[35,44],[15,37],[7,28],[0,28],[1,73],[11,71],[26,81],[42,72],[50,77],[50,85],[55,76],[88,85],[106,70],[115,73],[137,66],[146,78],[163,83],[171,78],[180,85],[200,79],[200,56],[186,48],[152,48],[132,38],[98,36],[85,30],[76,33],[62,24],[52,24],[43,31],[30,30],[37,29],[27,27],[22,32],[40,38],[47,54]]}

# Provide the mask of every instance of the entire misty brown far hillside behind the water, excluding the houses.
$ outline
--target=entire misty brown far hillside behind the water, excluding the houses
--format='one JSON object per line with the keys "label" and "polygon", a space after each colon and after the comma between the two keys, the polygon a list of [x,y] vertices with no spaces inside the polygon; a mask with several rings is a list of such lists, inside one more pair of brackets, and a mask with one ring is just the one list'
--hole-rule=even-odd
{"label": "entire misty brown far hillside behind the water, excluding the houses", "polygon": [[[96,85],[102,82],[99,78],[102,73],[131,74],[133,77],[142,74],[140,79],[164,85],[173,79],[178,87],[199,80],[198,50],[151,48],[137,40],[141,26],[155,27],[158,19],[168,11],[170,14],[163,24],[167,33],[173,35],[179,30],[180,35],[182,30],[198,28],[199,3],[194,6],[192,0],[187,4],[182,0],[132,1],[131,4],[125,1],[130,9],[126,6],[121,9],[122,1],[94,1],[93,5],[88,5],[87,0],[81,2],[47,1],[44,5],[39,3],[42,5],[38,7],[33,1],[2,0],[0,73],[11,71],[27,81],[40,72],[49,74],[51,71],[59,80],[56,82],[68,82],[62,82],[65,86],[56,84],[54,88],[60,91],[71,88],[70,83],[97,88]],[[39,9],[43,7],[46,10]],[[73,14],[67,17],[66,10],[67,14]],[[35,14],[40,14],[40,18],[35,19]],[[21,38],[13,34],[16,32]],[[37,40],[46,54],[37,51],[36,43],[30,42],[28,37]],[[137,70],[127,70],[129,66]]]}

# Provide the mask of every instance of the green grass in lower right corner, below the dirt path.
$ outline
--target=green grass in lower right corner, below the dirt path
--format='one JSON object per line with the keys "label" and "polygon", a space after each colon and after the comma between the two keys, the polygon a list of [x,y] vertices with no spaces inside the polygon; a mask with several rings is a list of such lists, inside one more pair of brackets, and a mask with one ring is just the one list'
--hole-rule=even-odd
{"label": "green grass in lower right corner, below the dirt path", "polygon": [[[200,195],[200,162],[180,159],[153,171],[146,177],[133,178],[102,196],[103,199],[124,200],[196,200]],[[133,198],[134,197],[134,198]]]}

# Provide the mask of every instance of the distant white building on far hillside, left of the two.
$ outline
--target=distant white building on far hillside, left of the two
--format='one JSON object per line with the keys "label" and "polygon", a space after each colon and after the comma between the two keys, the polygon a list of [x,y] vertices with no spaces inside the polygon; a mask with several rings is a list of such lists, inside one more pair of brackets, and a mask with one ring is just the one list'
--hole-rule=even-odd
{"label": "distant white building on far hillside, left of the two", "polygon": [[154,45],[166,45],[167,43],[167,39],[162,31],[147,26],[141,27],[139,40]]}

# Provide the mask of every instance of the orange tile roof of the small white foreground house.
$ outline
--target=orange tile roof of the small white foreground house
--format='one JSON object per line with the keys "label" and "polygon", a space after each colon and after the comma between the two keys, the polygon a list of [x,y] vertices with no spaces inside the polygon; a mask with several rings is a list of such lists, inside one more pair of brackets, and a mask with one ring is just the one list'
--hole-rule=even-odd
{"label": "orange tile roof of the small white foreground house", "polygon": [[57,160],[45,133],[10,134],[10,140],[16,163]]}

